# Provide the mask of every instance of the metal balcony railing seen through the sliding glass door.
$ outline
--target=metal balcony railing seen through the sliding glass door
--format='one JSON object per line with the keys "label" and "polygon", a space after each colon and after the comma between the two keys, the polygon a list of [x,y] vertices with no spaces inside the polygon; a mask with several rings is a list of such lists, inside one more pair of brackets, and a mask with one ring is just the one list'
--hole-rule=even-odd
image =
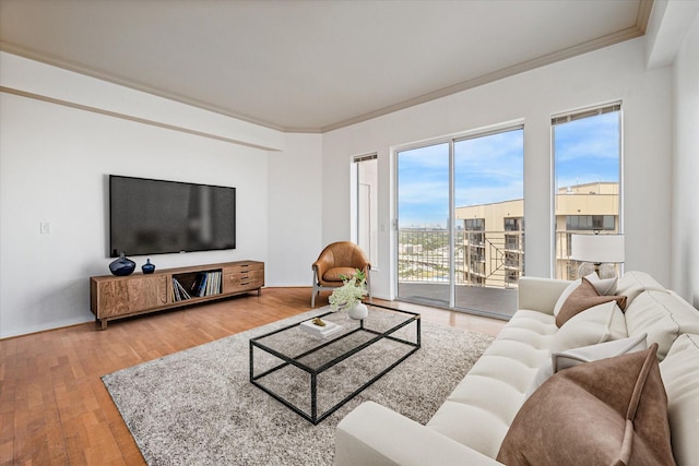
{"label": "metal balcony railing seen through the sliding glass door", "polygon": [[[399,280],[449,282],[449,231],[399,230]],[[454,232],[454,274],[458,285],[517,287],[524,272],[523,231]]]}

